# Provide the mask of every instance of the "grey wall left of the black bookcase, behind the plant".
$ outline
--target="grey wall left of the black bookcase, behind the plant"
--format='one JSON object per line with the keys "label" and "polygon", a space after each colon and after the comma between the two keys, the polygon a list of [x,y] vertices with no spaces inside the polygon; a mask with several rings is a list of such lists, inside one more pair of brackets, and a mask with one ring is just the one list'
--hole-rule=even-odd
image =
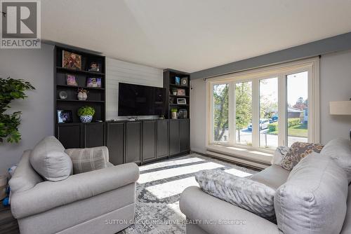
{"label": "grey wall left of the black bookcase, behind the plant", "polygon": [[0,76],[22,78],[36,90],[27,91],[28,98],[11,103],[10,111],[22,111],[19,144],[0,144],[0,174],[18,163],[22,152],[47,135],[53,135],[53,46],[41,49],[1,49]]}

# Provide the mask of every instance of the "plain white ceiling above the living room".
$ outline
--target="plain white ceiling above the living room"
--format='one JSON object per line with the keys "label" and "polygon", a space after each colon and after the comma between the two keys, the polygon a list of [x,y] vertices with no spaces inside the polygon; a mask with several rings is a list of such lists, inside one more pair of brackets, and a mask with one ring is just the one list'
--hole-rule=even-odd
{"label": "plain white ceiling above the living room", "polygon": [[45,0],[41,38],[199,71],[351,32],[351,0]]}

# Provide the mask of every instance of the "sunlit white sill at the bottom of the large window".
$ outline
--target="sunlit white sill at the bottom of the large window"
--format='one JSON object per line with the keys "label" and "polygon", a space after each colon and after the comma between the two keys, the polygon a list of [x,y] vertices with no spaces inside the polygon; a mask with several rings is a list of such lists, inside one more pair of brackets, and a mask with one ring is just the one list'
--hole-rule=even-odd
{"label": "sunlit white sill at the bottom of the large window", "polygon": [[225,153],[229,156],[239,156],[239,158],[254,161],[257,163],[263,163],[264,165],[270,165],[274,151],[264,151],[260,149],[246,149],[239,146],[223,146],[210,144],[207,147],[209,151],[216,151],[218,153]]}

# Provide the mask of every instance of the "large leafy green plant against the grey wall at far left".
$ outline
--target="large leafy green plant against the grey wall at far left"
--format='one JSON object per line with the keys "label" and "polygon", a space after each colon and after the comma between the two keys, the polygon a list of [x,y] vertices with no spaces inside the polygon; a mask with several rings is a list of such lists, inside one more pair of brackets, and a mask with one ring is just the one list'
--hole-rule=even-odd
{"label": "large leafy green plant against the grey wall at far left", "polygon": [[0,78],[0,142],[20,142],[21,134],[18,131],[22,114],[21,111],[5,113],[11,108],[10,103],[14,99],[25,99],[25,91],[35,90],[27,81],[22,79],[13,79],[10,77]]}

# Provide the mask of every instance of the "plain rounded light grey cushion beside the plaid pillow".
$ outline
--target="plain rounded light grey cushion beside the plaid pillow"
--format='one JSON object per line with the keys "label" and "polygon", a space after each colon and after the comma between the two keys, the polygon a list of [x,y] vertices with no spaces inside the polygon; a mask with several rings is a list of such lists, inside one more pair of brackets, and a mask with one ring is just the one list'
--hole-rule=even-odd
{"label": "plain rounded light grey cushion beside the plaid pillow", "polygon": [[72,174],[72,160],[55,137],[45,137],[31,152],[29,162],[41,177],[60,181]]}

